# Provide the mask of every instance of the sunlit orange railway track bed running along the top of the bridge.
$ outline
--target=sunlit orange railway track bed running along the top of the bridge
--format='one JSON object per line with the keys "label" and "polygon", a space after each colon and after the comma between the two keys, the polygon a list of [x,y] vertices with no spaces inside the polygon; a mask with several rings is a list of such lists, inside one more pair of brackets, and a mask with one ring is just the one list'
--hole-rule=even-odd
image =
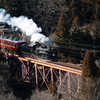
{"label": "sunlit orange railway track bed running along the top of the bridge", "polygon": [[[12,56],[12,54],[8,53],[9,56]],[[21,57],[17,54],[13,54],[13,56],[16,56],[19,60],[23,61],[30,61],[31,63],[35,63],[38,65],[46,66],[46,67],[51,67],[54,69],[62,70],[62,71],[68,71],[74,74],[79,74],[82,75],[82,67],[79,67],[76,64],[71,64],[71,63],[62,63],[62,62],[53,62],[49,60],[36,60],[30,57]]]}

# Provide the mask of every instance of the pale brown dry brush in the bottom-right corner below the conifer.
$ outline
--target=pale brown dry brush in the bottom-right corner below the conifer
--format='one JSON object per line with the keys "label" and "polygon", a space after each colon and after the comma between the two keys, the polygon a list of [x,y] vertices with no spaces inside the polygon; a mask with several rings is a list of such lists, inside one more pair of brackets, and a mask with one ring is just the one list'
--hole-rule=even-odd
{"label": "pale brown dry brush in the bottom-right corner below the conifer", "polygon": [[100,100],[100,77],[84,78],[81,92],[86,100]]}

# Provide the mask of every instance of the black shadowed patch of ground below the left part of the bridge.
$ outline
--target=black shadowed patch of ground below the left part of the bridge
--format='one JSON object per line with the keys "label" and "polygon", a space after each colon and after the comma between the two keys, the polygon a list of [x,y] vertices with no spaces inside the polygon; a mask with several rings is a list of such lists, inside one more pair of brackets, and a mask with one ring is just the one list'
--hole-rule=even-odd
{"label": "black shadowed patch of ground below the left part of the bridge", "polygon": [[33,87],[30,83],[14,83],[10,84],[9,87],[12,88],[13,95],[21,100],[29,100],[33,93]]}

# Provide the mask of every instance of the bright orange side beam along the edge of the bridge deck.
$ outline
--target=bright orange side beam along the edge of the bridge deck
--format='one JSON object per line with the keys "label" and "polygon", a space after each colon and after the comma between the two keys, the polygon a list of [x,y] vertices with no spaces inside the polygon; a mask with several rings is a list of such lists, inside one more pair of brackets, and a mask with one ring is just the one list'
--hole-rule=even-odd
{"label": "bright orange side beam along the edge of the bridge deck", "polygon": [[[9,53],[9,55],[11,55],[11,54]],[[58,70],[62,70],[62,71],[68,71],[68,72],[71,72],[71,73],[74,73],[74,74],[82,75],[82,70],[76,69],[74,64],[73,65],[72,64],[66,64],[66,66],[64,66],[64,65],[53,64],[53,63],[46,62],[46,61],[36,60],[36,59],[33,59],[33,58],[28,58],[28,57],[24,58],[24,57],[20,57],[16,54],[14,54],[14,56],[18,57],[18,59],[23,60],[23,61],[30,61],[31,63],[36,63],[36,64],[43,65],[43,66],[46,66],[46,67],[51,67],[51,68],[54,68],[54,69],[58,69]]]}

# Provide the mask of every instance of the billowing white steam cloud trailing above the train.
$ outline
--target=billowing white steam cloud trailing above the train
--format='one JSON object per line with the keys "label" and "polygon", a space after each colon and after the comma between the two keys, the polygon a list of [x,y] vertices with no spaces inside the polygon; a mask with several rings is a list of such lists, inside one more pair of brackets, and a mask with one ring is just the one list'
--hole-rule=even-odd
{"label": "billowing white steam cloud trailing above the train", "polygon": [[11,27],[21,29],[27,36],[30,36],[30,41],[35,43],[44,43],[50,45],[50,40],[40,32],[42,29],[37,27],[36,23],[32,19],[28,19],[26,16],[11,17],[10,14],[6,13],[5,9],[0,9],[0,22],[7,23]]}

